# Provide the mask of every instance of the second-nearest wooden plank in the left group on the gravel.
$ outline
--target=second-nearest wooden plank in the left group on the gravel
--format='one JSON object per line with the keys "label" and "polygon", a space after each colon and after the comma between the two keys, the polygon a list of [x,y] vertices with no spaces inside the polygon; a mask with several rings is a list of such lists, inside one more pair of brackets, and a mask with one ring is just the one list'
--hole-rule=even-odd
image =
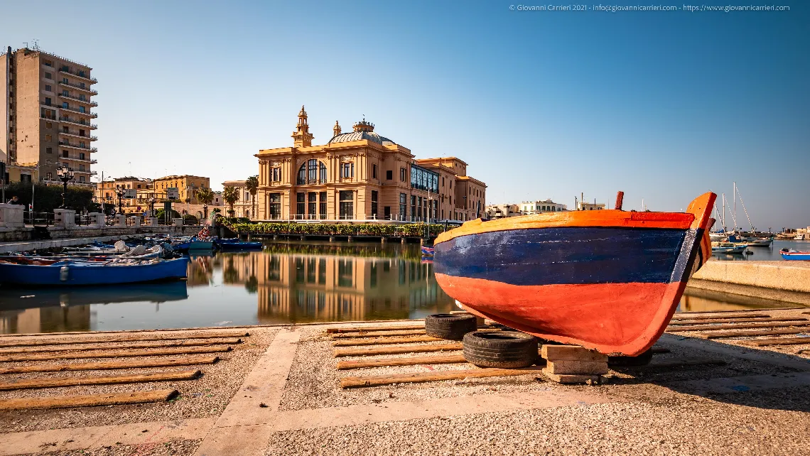
{"label": "second-nearest wooden plank in the left group on the gravel", "polygon": [[147,383],[150,381],[194,380],[200,375],[202,375],[202,373],[198,370],[182,370],[177,372],[145,373],[142,375],[36,378],[33,380],[2,381],[0,382],[0,391],[60,388],[62,386],[123,385],[127,383]]}

